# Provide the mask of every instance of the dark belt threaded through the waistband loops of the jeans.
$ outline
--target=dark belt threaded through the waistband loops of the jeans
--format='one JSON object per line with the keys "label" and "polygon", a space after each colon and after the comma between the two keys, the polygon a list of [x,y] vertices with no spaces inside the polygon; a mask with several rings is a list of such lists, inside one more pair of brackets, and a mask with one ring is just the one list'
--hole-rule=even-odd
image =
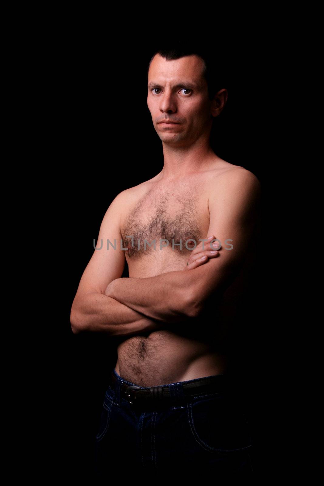
{"label": "dark belt threaded through the waistband loops of the jeans", "polygon": [[[111,372],[112,388],[115,389],[118,379]],[[182,382],[182,390],[184,397],[194,397],[195,395],[204,395],[205,393],[217,393],[228,391],[232,388],[233,381],[228,375],[213,375],[209,377],[199,378],[196,380],[189,380]],[[140,388],[137,385],[128,385],[123,382],[120,387],[120,397],[129,401],[129,403],[139,403],[148,401],[160,401],[181,399],[181,396],[176,397],[176,393],[170,391],[168,385],[151,386]]]}

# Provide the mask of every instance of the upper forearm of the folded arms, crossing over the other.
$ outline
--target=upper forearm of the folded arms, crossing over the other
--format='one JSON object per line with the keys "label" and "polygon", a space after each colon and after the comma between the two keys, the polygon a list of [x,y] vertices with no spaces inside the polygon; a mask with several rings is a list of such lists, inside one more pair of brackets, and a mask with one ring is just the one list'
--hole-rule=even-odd
{"label": "upper forearm of the folded arms, crossing over the other", "polygon": [[172,271],[155,277],[117,278],[107,286],[105,295],[162,322],[185,321],[193,306],[188,273]]}

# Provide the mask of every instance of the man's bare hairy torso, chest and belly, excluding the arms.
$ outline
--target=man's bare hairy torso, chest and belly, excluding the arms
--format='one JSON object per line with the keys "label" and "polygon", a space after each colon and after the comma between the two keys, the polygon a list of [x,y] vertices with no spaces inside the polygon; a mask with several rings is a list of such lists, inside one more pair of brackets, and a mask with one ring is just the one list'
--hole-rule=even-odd
{"label": "man's bare hairy torso, chest and belly, excluding the arms", "polygon": [[[124,248],[130,248],[126,252],[129,277],[154,277],[183,270],[190,256],[185,242],[193,239],[199,244],[200,238],[208,236],[209,194],[217,191],[222,172],[236,168],[217,157],[215,165],[208,171],[173,182],[160,181],[158,174],[128,190],[120,230]],[[130,235],[134,237],[133,248],[131,238],[127,238]],[[155,239],[155,250],[149,245],[144,250],[145,239],[149,243]],[[162,243],[160,249],[160,239],[168,240],[169,245],[163,247],[166,243]],[[172,239],[174,243],[182,240],[181,250],[176,245],[172,249]],[[163,330],[120,342],[115,366],[117,373],[140,386],[157,386],[226,373],[231,326],[252,261],[251,247],[239,276],[222,295],[219,304],[215,306],[214,302],[212,309],[206,308],[190,324],[166,323]]]}

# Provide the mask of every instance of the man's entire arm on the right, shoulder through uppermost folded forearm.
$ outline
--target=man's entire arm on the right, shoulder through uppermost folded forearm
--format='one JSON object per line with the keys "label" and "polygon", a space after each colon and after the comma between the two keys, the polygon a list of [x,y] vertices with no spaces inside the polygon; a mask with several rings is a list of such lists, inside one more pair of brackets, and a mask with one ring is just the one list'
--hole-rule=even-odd
{"label": "man's entire arm on the right, shoulder through uppermost folded forearm", "polygon": [[[222,243],[218,257],[189,271],[116,278],[104,294],[162,322],[198,316],[206,300],[222,294],[237,275],[256,224],[260,194],[260,183],[251,172],[239,169],[223,174],[221,187],[208,200],[210,223],[206,238],[215,235]],[[225,240],[232,248],[227,249]]]}

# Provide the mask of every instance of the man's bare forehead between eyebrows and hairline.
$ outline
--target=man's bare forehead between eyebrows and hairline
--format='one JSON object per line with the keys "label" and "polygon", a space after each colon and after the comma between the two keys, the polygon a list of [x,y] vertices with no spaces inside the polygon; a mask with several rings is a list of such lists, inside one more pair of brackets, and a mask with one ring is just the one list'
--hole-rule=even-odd
{"label": "man's bare forehead between eyebrows and hairline", "polygon": [[150,65],[148,81],[193,81],[200,85],[205,79],[203,76],[204,61],[196,56],[190,55],[167,61],[160,54],[155,54]]}

